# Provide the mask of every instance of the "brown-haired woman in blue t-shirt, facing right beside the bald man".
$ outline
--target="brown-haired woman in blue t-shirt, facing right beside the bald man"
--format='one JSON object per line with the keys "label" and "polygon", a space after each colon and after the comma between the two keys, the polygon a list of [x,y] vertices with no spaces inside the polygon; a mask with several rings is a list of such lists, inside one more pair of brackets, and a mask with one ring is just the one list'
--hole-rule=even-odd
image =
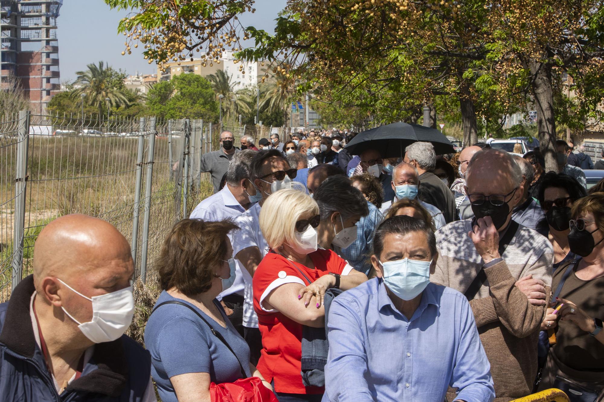
{"label": "brown-haired woman in blue t-shirt, facing right beside the bald man", "polygon": [[147,321],[145,345],[164,402],[209,401],[210,383],[232,383],[244,374],[260,377],[272,390],[216,300],[233,258],[226,236],[236,229],[230,220],[183,219],[162,244],[156,263],[162,292]]}

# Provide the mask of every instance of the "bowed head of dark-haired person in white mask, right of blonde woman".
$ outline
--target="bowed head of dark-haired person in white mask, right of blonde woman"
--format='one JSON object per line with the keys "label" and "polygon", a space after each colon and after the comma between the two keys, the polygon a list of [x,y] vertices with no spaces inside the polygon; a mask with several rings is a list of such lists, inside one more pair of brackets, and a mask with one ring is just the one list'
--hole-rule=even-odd
{"label": "bowed head of dark-haired person in white mask, right of blonde woman", "polygon": [[334,250],[342,257],[341,250],[354,243],[358,236],[356,223],[369,214],[367,202],[345,176],[327,177],[316,189],[313,200],[321,216],[316,228],[319,247]]}

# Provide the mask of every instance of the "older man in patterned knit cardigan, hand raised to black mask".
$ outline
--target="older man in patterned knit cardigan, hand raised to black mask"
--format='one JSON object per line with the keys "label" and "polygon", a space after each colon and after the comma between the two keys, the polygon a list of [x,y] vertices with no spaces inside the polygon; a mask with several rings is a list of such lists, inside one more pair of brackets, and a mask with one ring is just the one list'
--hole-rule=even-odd
{"label": "older man in patterned knit cardigan, hand raised to black mask", "polygon": [[466,180],[477,220],[449,223],[437,232],[440,257],[430,279],[470,301],[495,394],[510,401],[533,389],[553,249],[547,238],[511,219],[523,194],[521,169],[509,153],[477,152]]}

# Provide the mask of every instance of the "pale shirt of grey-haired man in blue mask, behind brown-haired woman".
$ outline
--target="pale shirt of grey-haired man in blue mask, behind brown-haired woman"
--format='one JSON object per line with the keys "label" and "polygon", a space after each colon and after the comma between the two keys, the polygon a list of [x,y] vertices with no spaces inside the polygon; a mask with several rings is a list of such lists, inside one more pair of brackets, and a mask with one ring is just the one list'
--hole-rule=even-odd
{"label": "pale shirt of grey-haired man in blue mask, behind brown-haired woman", "polygon": [[[243,212],[245,212],[245,208],[243,208],[243,206],[241,206],[241,204],[237,201],[227,184],[218,193],[213,194],[200,202],[198,206],[193,209],[193,212],[191,212],[191,216],[189,218],[201,219],[207,222],[218,222],[219,220],[225,219],[234,220]],[[235,253],[233,253],[233,256],[234,254]],[[233,295],[233,293],[243,296],[245,282],[243,281],[243,273],[241,269],[242,267],[238,261],[236,261],[235,280],[228,289],[223,290],[222,293],[218,295],[219,300],[222,300],[222,298],[228,295]]]}

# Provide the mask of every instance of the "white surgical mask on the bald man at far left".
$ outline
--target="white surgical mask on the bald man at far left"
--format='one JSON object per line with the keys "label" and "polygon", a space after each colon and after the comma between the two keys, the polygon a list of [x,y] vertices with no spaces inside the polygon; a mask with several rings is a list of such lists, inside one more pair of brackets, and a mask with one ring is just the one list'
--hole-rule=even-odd
{"label": "white surgical mask on the bald man at far left", "polygon": [[65,310],[65,307],[61,306],[65,314],[78,324],[80,331],[92,342],[103,343],[116,340],[126,332],[132,323],[134,315],[132,286],[124,287],[117,292],[88,298],[61,279],[59,281],[72,292],[92,302],[92,321],[83,323],[77,321]]}

